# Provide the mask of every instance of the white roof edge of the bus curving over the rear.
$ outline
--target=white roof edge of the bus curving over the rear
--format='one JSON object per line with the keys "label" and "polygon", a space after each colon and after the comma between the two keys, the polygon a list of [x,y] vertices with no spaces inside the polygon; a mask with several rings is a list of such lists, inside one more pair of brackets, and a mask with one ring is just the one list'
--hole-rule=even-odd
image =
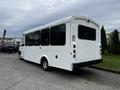
{"label": "white roof edge of the bus curving over the rear", "polygon": [[91,19],[88,18],[88,17],[76,15],[76,16],[69,16],[69,17],[66,17],[66,18],[64,18],[64,19],[60,19],[60,20],[54,21],[54,22],[52,22],[52,23],[48,23],[48,24],[45,24],[45,25],[41,25],[41,26],[39,26],[39,27],[37,27],[37,28],[34,28],[34,29],[31,29],[31,30],[24,31],[23,34],[35,32],[35,31],[38,31],[38,30],[41,30],[41,29],[49,28],[49,27],[51,27],[51,26],[55,26],[55,25],[58,25],[58,24],[67,23],[67,22],[70,22],[71,20],[77,20],[77,19],[78,19],[78,20],[79,20],[79,19],[88,20],[88,21],[94,23],[97,27],[99,27],[99,25],[98,25],[94,20],[91,20]]}

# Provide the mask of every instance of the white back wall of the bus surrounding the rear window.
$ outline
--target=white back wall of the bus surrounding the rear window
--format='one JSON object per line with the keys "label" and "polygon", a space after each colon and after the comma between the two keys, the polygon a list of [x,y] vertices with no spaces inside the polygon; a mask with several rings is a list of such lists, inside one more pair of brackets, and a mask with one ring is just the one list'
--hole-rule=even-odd
{"label": "white back wall of the bus surrounding the rear window", "polygon": [[[96,40],[84,40],[78,38],[78,26],[83,25],[86,27],[94,28],[96,30]],[[82,63],[91,60],[101,59],[100,53],[100,28],[92,22],[87,22],[84,19],[76,19],[72,24],[72,34],[76,36],[75,42],[72,42],[76,45],[76,62]]]}

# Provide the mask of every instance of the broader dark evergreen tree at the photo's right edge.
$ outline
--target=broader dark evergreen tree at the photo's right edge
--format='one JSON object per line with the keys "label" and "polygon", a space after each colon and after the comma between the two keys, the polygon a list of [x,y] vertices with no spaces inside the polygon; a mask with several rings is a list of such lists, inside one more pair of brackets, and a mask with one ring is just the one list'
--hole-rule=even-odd
{"label": "broader dark evergreen tree at the photo's right edge", "polygon": [[111,51],[114,54],[120,53],[120,43],[119,43],[119,36],[118,31],[114,30],[111,37]]}

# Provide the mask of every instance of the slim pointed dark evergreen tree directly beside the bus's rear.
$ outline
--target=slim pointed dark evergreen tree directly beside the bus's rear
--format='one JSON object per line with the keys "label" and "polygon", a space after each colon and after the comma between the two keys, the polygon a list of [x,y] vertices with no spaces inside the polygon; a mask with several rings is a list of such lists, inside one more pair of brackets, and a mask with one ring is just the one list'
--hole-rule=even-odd
{"label": "slim pointed dark evergreen tree directly beside the bus's rear", "polygon": [[107,49],[107,40],[106,40],[106,32],[104,27],[101,28],[101,45],[102,45],[102,53],[105,53]]}

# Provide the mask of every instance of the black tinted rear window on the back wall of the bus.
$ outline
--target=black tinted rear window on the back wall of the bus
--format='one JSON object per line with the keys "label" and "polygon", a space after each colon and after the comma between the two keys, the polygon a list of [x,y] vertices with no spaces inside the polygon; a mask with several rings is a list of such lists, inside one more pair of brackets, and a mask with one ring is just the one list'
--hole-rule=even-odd
{"label": "black tinted rear window on the back wall of the bus", "polygon": [[96,40],[96,30],[83,25],[78,26],[78,38],[84,40]]}

